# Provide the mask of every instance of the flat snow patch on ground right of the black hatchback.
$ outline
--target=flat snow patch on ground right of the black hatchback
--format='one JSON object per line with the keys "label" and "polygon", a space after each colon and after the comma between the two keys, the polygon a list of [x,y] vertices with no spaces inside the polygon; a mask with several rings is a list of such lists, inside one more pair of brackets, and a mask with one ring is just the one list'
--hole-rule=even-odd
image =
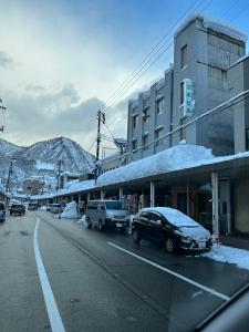
{"label": "flat snow patch on ground right of the black hatchback", "polygon": [[220,262],[234,263],[239,268],[249,270],[248,250],[214,245],[211,251],[203,253],[201,256]]}

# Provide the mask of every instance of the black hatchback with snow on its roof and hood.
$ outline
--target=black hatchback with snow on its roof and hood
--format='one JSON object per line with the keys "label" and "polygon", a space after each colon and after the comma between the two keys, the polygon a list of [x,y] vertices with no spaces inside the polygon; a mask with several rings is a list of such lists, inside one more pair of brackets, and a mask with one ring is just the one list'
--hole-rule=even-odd
{"label": "black hatchback with snow on its roof and hood", "polygon": [[134,218],[132,237],[157,242],[168,252],[177,249],[207,250],[211,248],[209,230],[184,215],[167,207],[144,208]]}

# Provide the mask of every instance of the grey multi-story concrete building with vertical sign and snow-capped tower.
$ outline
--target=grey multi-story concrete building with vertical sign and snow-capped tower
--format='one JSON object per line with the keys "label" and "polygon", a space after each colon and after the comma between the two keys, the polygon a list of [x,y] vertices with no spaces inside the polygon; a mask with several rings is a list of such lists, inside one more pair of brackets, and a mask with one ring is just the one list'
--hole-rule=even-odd
{"label": "grey multi-story concrete building with vertical sign and snow-capped tower", "polygon": [[246,40],[239,30],[201,15],[179,27],[174,37],[174,65],[149,91],[129,101],[129,162],[183,139],[210,147],[215,155],[235,153],[232,110],[198,118],[231,96],[227,82],[234,80],[232,63],[246,53]]}

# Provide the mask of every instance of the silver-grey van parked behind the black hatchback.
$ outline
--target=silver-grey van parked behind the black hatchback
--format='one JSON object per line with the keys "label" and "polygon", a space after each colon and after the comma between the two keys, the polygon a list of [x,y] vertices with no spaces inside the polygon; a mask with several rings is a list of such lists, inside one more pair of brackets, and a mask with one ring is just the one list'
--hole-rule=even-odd
{"label": "silver-grey van parked behind the black hatchback", "polygon": [[129,212],[120,200],[90,200],[85,210],[87,227],[100,230],[121,229],[129,226]]}

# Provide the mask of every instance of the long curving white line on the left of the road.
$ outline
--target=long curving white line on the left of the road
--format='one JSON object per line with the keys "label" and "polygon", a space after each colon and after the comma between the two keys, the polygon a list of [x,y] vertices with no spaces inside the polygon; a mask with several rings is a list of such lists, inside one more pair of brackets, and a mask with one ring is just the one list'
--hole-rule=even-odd
{"label": "long curving white line on the left of the road", "polygon": [[43,291],[43,297],[45,300],[46,311],[50,319],[50,325],[53,332],[64,332],[65,329],[63,326],[60,312],[58,310],[58,305],[55,299],[53,297],[53,292],[45,272],[45,268],[42,262],[41,252],[39,249],[38,242],[38,227],[39,227],[39,218],[37,219],[37,225],[33,234],[33,247],[34,247],[34,256],[38,266],[39,278]]}

